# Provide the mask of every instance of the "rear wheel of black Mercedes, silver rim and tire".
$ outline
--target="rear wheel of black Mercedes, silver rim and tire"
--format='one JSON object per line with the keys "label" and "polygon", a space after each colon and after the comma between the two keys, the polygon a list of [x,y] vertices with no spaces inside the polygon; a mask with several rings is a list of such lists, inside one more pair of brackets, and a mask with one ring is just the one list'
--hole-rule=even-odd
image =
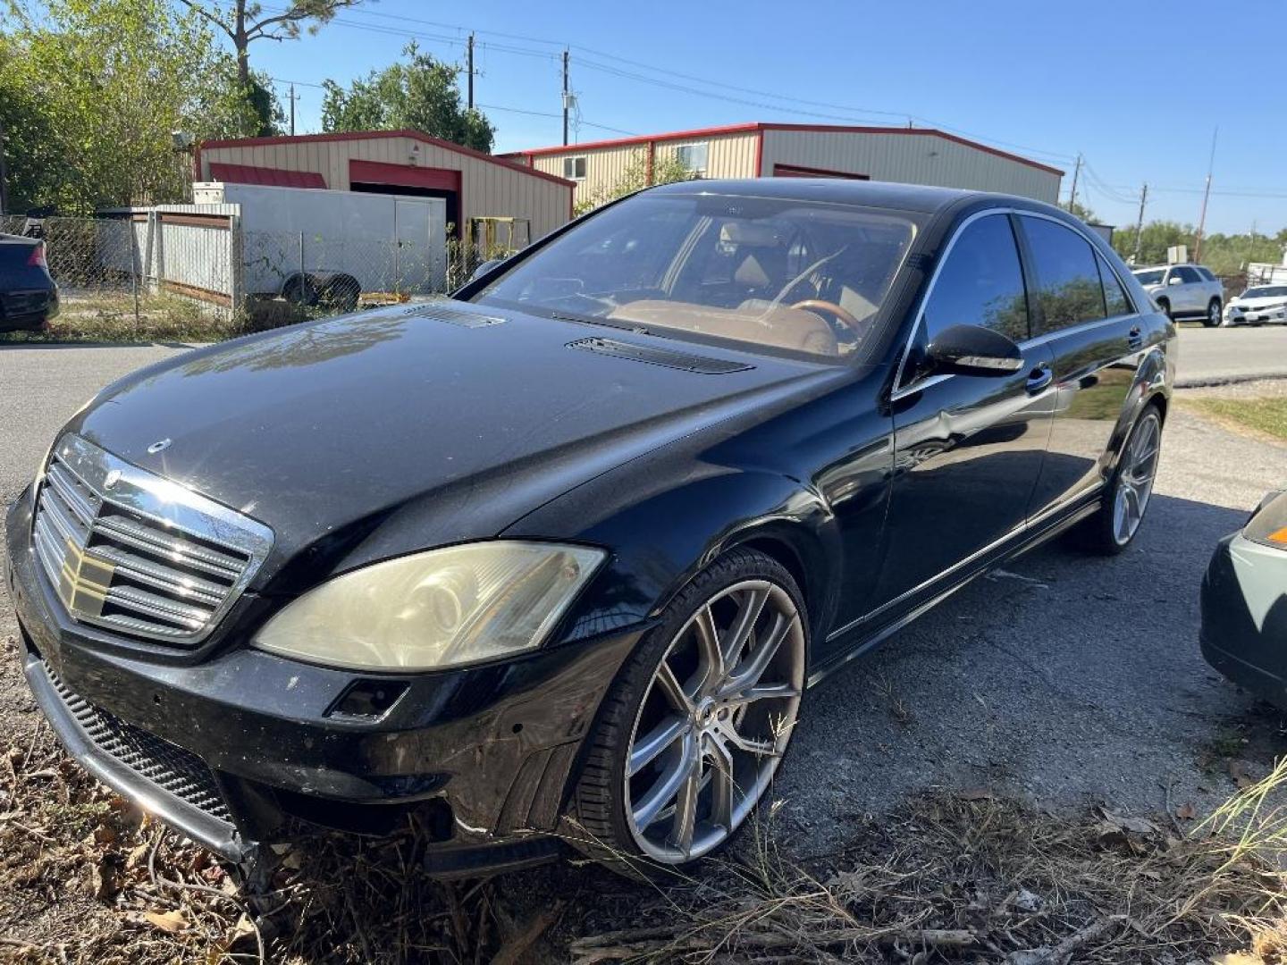
{"label": "rear wheel of black Mercedes, silver rim and tire", "polygon": [[1115,556],[1135,539],[1144,521],[1162,446],[1162,412],[1149,403],[1135,419],[1121,458],[1099,498],[1094,516],[1071,533],[1082,549]]}

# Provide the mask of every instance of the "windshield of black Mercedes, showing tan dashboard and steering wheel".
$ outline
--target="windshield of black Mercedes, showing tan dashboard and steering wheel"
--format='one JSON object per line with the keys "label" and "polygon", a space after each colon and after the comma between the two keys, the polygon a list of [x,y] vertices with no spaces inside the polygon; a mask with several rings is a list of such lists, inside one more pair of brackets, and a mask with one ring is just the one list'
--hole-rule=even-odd
{"label": "windshield of black Mercedes, showing tan dashboard and steering wheel", "polygon": [[840,359],[915,235],[909,216],[726,194],[641,194],[589,217],[476,301]]}

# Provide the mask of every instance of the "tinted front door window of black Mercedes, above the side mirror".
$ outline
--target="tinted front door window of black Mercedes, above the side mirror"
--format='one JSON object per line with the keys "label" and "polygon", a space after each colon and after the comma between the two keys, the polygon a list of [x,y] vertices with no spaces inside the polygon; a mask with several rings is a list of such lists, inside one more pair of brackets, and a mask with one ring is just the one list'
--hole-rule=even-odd
{"label": "tinted front door window of black Mercedes, above the side mirror", "polygon": [[924,342],[951,326],[992,328],[1017,342],[1028,337],[1023,269],[1006,215],[981,217],[956,235],[925,302]]}

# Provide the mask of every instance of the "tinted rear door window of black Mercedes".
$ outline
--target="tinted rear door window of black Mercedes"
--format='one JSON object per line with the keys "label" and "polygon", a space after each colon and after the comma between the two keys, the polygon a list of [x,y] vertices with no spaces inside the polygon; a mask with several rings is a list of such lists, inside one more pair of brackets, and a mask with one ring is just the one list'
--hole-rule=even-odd
{"label": "tinted rear door window of black Mercedes", "polygon": [[1106,318],[1104,290],[1090,242],[1055,221],[1021,215],[1036,270],[1036,335]]}

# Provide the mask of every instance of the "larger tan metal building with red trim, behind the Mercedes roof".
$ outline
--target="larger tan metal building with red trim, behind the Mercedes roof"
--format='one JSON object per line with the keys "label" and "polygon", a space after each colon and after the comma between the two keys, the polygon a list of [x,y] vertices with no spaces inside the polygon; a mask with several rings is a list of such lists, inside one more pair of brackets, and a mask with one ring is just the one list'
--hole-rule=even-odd
{"label": "larger tan metal building with red trim, behind the Mercedes roof", "polygon": [[928,127],[740,124],[534,148],[507,154],[575,181],[577,201],[610,189],[631,165],[649,176],[677,157],[703,178],[856,178],[1021,194],[1054,203],[1063,171]]}

